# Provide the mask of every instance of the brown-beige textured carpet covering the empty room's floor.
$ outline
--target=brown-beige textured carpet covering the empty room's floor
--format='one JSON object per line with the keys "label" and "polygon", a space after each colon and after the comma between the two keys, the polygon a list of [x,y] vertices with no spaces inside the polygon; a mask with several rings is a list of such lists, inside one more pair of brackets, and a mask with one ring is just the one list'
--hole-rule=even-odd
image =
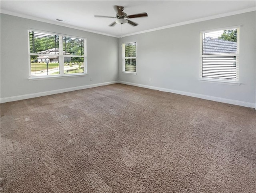
{"label": "brown-beige textured carpet covering the empty room's floor", "polygon": [[256,192],[256,111],[122,84],[3,103],[6,192]]}

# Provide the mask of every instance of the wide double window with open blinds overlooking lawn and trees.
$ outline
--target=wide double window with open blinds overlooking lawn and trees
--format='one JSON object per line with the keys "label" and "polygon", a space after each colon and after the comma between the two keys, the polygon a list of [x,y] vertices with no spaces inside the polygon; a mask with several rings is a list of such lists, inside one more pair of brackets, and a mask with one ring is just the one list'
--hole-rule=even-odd
{"label": "wide double window with open blinds overlooking lawn and trees", "polygon": [[29,31],[30,76],[86,74],[86,40]]}

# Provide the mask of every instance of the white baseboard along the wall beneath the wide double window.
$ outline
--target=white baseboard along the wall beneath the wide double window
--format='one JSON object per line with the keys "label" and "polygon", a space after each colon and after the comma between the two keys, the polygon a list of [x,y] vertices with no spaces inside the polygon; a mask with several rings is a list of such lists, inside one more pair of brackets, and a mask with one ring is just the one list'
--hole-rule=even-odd
{"label": "white baseboard along the wall beneath the wide double window", "polygon": [[116,83],[118,83],[118,81],[104,82],[104,83],[99,83],[99,84],[89,84],[89,85],[84,85],[84,86],[76,86],[76,87],[71,87],[71,88],[51,90],[51,91],[46,91],[46,92],[37,92],[37,93],[24,94],[24,95],[12,96],[12,97],[4,97],[4,98],[0,99],[0,103],[18,101],[18,100],[29,99],[29,98],[40,97],[40,96],[46,96],[46,95],[52,95],[52,94],[59,94],[59,93],[63,93],[63,92],[70,92],[70,91],[74,91],[74,90],[81,90],[81,89],[93,88],[93,87],[98,87],[98,86],[105,86],[105,85],[116,84]]}

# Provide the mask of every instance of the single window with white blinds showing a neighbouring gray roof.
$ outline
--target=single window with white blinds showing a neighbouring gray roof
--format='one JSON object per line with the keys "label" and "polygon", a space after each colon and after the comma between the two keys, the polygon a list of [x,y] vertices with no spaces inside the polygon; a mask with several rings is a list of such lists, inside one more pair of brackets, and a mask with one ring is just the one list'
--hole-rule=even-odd
{"label": "single window with white blinds showing a neighbouring gray roof", "polygon": [[200,79],[238,81],[239,28],[201,33]]}

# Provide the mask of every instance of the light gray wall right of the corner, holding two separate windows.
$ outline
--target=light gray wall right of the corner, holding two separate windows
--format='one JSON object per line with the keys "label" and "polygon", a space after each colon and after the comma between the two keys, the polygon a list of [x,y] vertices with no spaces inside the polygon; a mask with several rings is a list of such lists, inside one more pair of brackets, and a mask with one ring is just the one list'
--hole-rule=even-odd
{"label": "light gray wall right of the corner, holding two separate windows", "polygon": [[[119,38],[119,80],[255,105],[255,12]],[[240,27],[240,86],[199,81],[200,31]],[[137,75],[122,73],[122,48],[137,41]],[[149,78],[152,82],[149,82]]]}

